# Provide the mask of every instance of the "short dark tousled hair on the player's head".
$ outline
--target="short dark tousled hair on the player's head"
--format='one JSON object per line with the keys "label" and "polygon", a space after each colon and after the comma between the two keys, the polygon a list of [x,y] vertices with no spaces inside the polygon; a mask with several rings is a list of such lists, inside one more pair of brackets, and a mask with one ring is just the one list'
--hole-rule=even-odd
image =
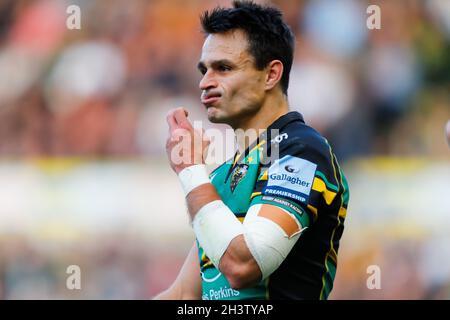
{"label": "short dark tousled hair on the player's head", "polygon": [[216,7],[205,11],[200,20],[206,34],[243,30],[258,70],[264,69],[273,60],[280,60],[284,67],[281,89],[287,95],[295,36],[283,21],[280,10],[253,1],[233,1],[233,8]]}

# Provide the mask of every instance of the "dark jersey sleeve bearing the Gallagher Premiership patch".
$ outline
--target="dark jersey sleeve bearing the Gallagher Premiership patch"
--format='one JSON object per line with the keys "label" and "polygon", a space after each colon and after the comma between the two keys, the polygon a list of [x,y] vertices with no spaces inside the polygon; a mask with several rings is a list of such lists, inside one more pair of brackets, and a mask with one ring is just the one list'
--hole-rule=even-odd
{"label": "dark jersey sleeve bearing the Gallagher Premiership patch", "polygon": [[271,149],[271,160],[261,164],[250,205],[281,207],[292,213],[303,228],[310,227],[325,199],[322,182],[334,179],[328,144],[323,138],[308,143],[294,137],[272,144]]}

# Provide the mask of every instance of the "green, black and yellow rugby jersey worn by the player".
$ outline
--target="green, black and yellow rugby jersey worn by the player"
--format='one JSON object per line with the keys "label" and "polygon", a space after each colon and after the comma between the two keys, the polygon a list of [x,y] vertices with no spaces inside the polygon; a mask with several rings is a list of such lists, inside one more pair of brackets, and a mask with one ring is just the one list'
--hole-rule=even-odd
{"label": "green, black and yellow rugby jersey worn by the player", "polygon": [[303,231],[275,272],[243,290],[230,287],[197,243],[203,299],[326,299],[349,201],[346,178],[327,140],[290,112],[210,179],[240,221],[250,206],[267,203],[291,212]]}

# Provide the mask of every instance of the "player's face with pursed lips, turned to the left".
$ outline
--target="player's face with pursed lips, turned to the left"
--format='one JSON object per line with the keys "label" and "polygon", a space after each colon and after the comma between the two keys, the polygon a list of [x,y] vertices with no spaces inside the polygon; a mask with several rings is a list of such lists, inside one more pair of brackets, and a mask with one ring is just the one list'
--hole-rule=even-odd
{"label": "player's face with pursed lips, turned to the left", "polygon": [[209,35],[198,69],[203,74],[201,101],[211,122],[235,127],[260,109],[266,72],[256,69],[243,31]]}

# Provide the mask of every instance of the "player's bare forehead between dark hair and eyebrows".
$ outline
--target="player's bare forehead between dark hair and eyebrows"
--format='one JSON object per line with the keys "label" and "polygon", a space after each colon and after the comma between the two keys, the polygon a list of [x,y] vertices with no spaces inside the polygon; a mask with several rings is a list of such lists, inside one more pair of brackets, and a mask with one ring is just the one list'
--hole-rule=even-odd
{"label": "player's bare forehead between dark hair and eyebrows", "polygon": [[206,64],[222,59],[239,62],[251,57],[247,49],[247,37],[241,30],[210,34],[203,44],[200,61]]}

